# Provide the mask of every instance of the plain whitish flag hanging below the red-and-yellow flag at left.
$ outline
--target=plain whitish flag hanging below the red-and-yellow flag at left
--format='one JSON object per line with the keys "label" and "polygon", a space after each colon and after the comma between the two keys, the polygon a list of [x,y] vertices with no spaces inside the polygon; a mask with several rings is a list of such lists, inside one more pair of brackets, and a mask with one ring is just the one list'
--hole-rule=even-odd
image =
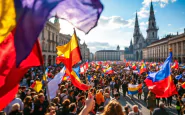
{"label": "plain whitish flag hanging below the red-and-yellow flag at left", "polygon": [[62,68],[62,70],[55,75],[55,77],[48,83],[48,93],[50,96],[50,99],[53,99],[56,97],[57,90],[58,90],[58,84],[61,83],[64,74],[65,74],[65,67]]}

